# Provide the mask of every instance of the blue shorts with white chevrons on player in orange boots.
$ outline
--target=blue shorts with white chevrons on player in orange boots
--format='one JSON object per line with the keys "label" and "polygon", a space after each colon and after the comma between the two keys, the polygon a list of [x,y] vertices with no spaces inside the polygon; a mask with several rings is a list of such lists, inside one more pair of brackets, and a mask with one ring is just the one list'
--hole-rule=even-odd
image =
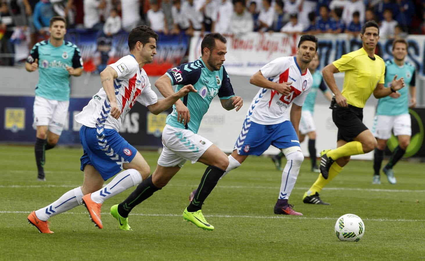
{"label": "blue shorts with white chevrons on player in orange boots", "polygon": [[81,170],[92,165],[103,180],[115,176],[122,170],[123,163],[130,163],[137,150],[114,129],[81,126],[80,143],[84,149],[81,156]]}

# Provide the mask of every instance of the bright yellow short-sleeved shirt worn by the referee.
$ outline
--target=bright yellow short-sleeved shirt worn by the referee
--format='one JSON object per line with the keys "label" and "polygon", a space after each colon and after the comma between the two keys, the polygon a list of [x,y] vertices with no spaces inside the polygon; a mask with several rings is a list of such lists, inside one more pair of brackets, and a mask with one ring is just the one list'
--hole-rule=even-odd
{"label": "bright yellow short-sleeved shirt worn by the referee", "polygon": [[363,108],[378,83],[384,83],[385,62],[375,54],[374,60],[365,49],[347,53],[332,63],[340,72],[345,72],[341,94],[347,103]]}

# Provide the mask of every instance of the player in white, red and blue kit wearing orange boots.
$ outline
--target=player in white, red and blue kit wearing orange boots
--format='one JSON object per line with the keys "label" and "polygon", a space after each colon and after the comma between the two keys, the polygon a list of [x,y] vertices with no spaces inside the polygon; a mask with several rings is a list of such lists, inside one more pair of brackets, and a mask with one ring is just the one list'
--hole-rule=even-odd
{"label": "player in white, red and blue kit wearing orange boots", "polygon": [[[192,85],[186,85],[174,95],[157,100],[142,69],[152,62],[157,39],[158,35],[145,25],[134,28],[128,36],[131,54],[108,65],[100,74],[102,88],[75,116],[75,120],[82,124],[79,136],[84,150],[80,159],[81,170],[84,171],[83,185],[28,215],[28,221],[41,233],[53,233],[47,223],[51,216],[81,203],[85,204],[96,226],[102,228],[102,203],[149,176],[150,168],[142,155],[118,133],[125,115],[136,101],[153,114],[159,114],[179,98],[195,91]],[[120,172],[122,169],[125,171]],[[102,188],[104,181],[113,176],[113,180]]]}

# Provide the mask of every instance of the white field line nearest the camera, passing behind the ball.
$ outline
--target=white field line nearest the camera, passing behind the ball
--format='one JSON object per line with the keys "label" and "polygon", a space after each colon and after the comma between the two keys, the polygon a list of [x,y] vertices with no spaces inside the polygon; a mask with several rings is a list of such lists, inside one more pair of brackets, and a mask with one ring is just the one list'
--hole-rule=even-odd
{"label": "white field line nearest the camera, passing behind the ball", "polygon": [[[0,211],[0,214],[28,214],[31,211]],[[88,215],[87,212],[64,212],[62,214],[71,215]],[[101,213],[102,215],[108,215],[109,212]],[[181,214],[143,214],[143,213],[130,213],[132,216],[176,216],[181,217]],[[288,216],[232,216],[232,215],[205,215],[207,217],[217,218],[244,218],[244,219],[306,219],[306,220],[337,220],[338,217],[288,217]],[[425,222],[425,219],[363,219],[366,221],[377,221],[377,222]]]}

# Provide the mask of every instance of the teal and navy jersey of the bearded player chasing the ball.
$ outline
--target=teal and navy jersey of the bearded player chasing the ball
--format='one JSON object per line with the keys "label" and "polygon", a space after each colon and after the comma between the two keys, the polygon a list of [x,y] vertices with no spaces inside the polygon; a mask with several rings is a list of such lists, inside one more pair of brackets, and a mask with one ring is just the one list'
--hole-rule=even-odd
{"label": "teal and navy jersey of the bearded player chasing the ball", "polygon": [[202,59],[172,68],[165,75],[170,77],[172,85],[177,85],[176,92],[187,84],[192,84],[198,91],[181,98],[190,112],[190,122],[186,126],[177,121],[176,105],[173,105],[173,112],[168,115],[166,123],[176,128],[197,133],[202,117],[207,113],[215,95],[218,95],[220,100],[235,96],[224,66],[218,71],[210,71]]}

